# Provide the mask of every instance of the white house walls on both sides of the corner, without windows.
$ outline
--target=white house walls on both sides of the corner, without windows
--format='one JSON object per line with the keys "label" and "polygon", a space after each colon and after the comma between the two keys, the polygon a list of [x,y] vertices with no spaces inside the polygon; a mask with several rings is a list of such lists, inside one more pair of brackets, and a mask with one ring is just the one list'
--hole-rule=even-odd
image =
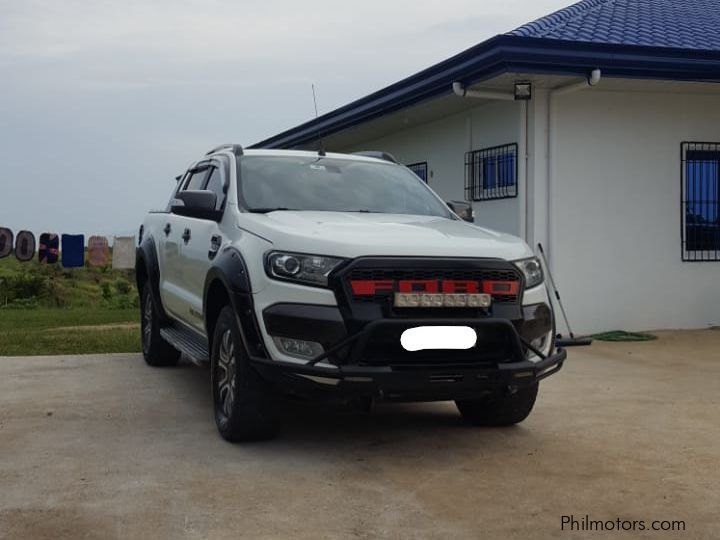
{"label": "white house walls on both sides of the corner, without windows", "polygon": [[[720,91],[598,87],[556,97],[549,192],[546,99],[538,89],[530,105],[529,184],[521,172],[518,198],[475,203],[478,224],[522,235],[529,194],[529,242],[548,248],[576,333],[720,325],[720,263],[682,262],[680,243],[680,145],[720,142]],[[522,110],[486,103],[343,150],[427,161],[430,185],[446,200],[462,200],[468,149],[517,142],[524,170]]]}

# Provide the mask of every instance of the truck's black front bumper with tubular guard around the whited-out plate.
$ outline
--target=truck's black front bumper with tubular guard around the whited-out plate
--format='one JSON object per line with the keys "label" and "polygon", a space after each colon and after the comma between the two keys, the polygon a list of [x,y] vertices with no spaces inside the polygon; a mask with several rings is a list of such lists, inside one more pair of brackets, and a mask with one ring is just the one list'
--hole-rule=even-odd
{"label": "truck's black front bumper with tubular guard around the whited-out plate", "polygon": [[[529,344],[518,325],[507,319],[378,319],[348,335],[335,311],[297,304],[268,308],[264,322],[270,334],[318,341],[325,352],[305,363],[252,356],[258,371],[302,395],[330,392],[342,397],[433,401],[536,384],[557,373],[567,357],[565,350],[558,349],[549,355],[535,351],[538,360],[528,360]],[[476,331],[478,343],[466,351],[405,351],[400,335],[417,326],[468,326]]]}

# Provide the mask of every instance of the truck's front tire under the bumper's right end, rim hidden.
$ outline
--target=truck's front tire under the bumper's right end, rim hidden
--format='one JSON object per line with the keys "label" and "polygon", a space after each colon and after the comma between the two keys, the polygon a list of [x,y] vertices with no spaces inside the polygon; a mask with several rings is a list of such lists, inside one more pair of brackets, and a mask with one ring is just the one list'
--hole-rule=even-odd
{"label": "truck's front tire under the bumper's right end, rim hidden", "polygon": [[517,392],[489,394],[455,402],[465,421],[475,426],[512,426],[525,420],[535,405],[538,384]]}

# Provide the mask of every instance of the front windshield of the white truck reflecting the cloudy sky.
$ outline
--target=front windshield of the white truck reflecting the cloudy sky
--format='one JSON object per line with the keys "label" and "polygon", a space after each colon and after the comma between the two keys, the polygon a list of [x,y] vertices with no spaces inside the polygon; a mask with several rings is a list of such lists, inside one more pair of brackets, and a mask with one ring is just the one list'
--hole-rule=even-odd
{"label": "front windshield of the white truck reflecting the cloudy sky", "polygon": [[414,173],[391,163],[319,156],[245,156],[238,189],[251,212],[320,210],[451,214]]}

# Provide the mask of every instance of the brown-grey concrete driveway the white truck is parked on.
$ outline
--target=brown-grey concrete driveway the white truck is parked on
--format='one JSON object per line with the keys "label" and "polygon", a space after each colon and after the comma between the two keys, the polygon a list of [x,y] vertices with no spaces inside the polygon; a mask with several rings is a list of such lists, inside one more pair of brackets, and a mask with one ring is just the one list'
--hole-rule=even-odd
{"label": "brown-grey concrete driveway the white truck is parked on", "polygon": [[514,428],[293,403],[251,445],[216,434],[206,369],[0,358],[0,538],[718,538],[720,332],[660,335],[571,351]]}

